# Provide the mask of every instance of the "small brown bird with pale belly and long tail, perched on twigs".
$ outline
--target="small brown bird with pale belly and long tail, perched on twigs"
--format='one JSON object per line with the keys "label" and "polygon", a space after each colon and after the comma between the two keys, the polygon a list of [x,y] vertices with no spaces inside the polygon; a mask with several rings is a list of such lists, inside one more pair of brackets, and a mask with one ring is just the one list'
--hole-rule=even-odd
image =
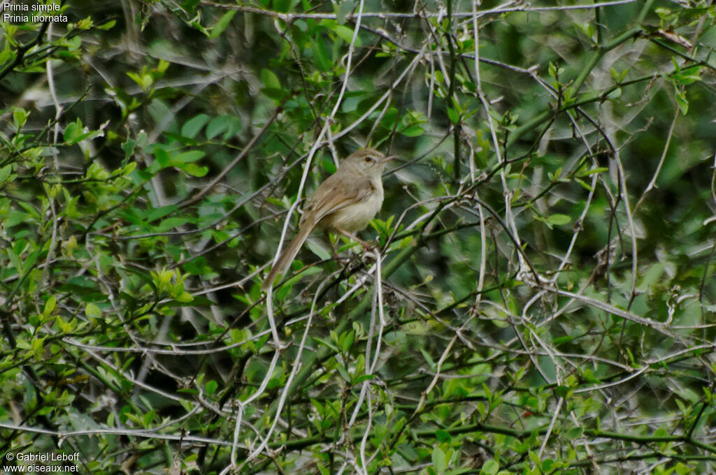
{"label": "small brown bird with pale belly and long tail, perched on twigs", "polygon": [[276,260],[261,290],[268,290],[276,277],[289,268],[314,227],[339,232],[362,243],[354,233],[366,227],[380,210],[383,204],[382,172],[393,158],[367,148],[353,152],[343,160],[338,170],[309,198],[299,221],[299,233]]}

